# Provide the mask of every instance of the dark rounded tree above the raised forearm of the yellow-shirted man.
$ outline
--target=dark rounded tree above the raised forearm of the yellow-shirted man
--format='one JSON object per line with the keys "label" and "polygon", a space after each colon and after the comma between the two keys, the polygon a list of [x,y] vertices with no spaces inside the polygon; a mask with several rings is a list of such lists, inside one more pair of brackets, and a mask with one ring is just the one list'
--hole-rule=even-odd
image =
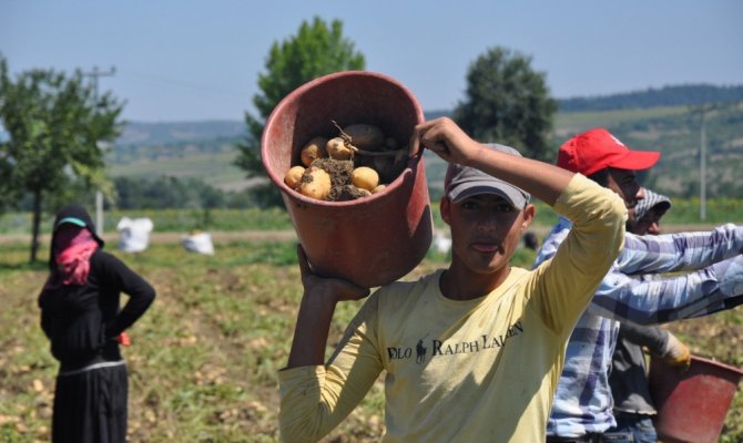
{"label": "dark rounded tree above the raised forearm of the yellow-shirted man", "polygon": [[530,64],[530,56],[501,47],[486,51],[469,66],[467,99],[456,107],[454,120],[476,140],[551,161],[548,136],[557,101],[549,95],[544,73]]}

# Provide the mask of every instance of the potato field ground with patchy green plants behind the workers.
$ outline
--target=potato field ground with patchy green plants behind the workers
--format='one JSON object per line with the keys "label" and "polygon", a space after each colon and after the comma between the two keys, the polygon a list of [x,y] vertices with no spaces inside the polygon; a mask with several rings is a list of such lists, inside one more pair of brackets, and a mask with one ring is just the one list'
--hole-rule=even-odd
{"label": "potato field ground with patchy green plants behind the workers", "polygon": [[[157,299],[132,328],[124,349],[130,371],[131,442],[275,442],[276,371],[287,359],[299,274],[293,243],[228,241],[217,254],[187,254],[177,244],[153,244],[142,254],[114,250],[157,289]],[[42,247],[43,257],[48,250]],[[515,265],[528,267],[520,249]],[[430,253],[407,278],[442,266]],[[35,297],[43,264],[27,264],[27,246],[0,250],[0,441],[49,441],[57,363],[38,324]],[[329,343],[360,302],[340,303]],[[689,320],[674,331],[695,352],[743,364],[743,313]],[[330,352],[330,348],[326,356]],[[381,382],[325,442],[378,441]],[[740,393],[723,441],[743,439]]]}

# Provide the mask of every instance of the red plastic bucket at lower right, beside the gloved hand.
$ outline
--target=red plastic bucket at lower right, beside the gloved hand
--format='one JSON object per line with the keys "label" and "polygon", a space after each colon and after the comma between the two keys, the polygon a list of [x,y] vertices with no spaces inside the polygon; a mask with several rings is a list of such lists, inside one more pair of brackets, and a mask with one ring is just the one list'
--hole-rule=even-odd
{"label": "red plastic bucket at lower right, beside the gloved hand", "polygon": [[743,371],[692,356],[689,371],[651,358],[650,393],[655,430],[664,442],[716,442]]}

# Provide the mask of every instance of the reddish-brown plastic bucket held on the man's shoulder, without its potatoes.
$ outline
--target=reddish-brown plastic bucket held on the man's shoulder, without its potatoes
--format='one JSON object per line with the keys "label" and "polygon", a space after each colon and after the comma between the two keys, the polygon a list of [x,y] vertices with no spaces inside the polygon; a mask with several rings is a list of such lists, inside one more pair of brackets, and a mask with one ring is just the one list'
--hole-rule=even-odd
{"label": "reddish-brown plastic bucket held on the man's shoulder, without its potatoes", "polygon": [[424,114],[413,93],[389,76],[347,71],[322,76],[288,94],[266,122],[261,156],[314,270],[364,287],[394,281],[413,270],[432,238],[426,171],[420,156],[385,190],[350,202],[323,202],[284,184],[314,136],[336,136],[354,123],[373,124],[407,145]]}

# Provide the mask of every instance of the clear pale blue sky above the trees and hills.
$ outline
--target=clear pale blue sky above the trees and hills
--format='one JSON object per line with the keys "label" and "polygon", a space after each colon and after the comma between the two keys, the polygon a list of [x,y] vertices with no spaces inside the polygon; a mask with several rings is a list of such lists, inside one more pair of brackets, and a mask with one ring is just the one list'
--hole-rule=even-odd
{"label": "clear pale blue sky above the trees and hills", "polygon": [[496,45],[530,56],[557,99],[743,84],[740,0],[0,0],[0,54],[12,74],[111,73],[99,90],[129,121],[242,121],[271,45],[314,17],[340,20],[366,69],[425,111],[465,100]]}

